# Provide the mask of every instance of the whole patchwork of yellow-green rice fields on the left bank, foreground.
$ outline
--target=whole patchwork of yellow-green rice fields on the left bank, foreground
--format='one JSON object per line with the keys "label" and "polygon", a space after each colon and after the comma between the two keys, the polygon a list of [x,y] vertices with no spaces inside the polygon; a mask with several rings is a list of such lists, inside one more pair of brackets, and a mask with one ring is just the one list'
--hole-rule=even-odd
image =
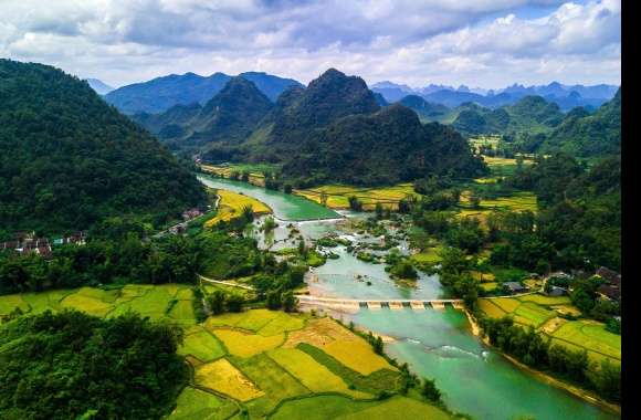
{"label": "whole patchwork of yellow-green rice fields on the left bank, foreground", "polygon": [[[181,326],[185,336],[177,351],[191,366],[192,376],[169,416],[172,420],[229,419],[240,410],[249,419],[282,418],[298,405],[315,406],[325,392],[332,393],[327,402],[335,406],[322,407],[320,418],[335,418],[326,412],[357,411],[376,418],[419,408],[419,417],[430,410],[441,413],[406,398],[375,401],[380,390],[393,391],[398,370],[332,318],[252,309],[210,316],[198,325],[192,300],[191,286],[182,284],[82,287],[0,296],[0,316],[15,307],[28,314],[73,307],[109,317],[135,311]],[[387,409],[388,401],[396,402]]]}

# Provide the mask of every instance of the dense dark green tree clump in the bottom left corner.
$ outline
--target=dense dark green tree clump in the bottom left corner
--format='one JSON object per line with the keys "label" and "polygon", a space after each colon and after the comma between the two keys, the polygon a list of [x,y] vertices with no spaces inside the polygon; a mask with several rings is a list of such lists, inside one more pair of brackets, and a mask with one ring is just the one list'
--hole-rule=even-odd
{"label": "dense dark green tree clump in the bottom left corner", "polygon": [[0,417],[161,418],[186,382],[180,328],[45,312],[0,327]]}

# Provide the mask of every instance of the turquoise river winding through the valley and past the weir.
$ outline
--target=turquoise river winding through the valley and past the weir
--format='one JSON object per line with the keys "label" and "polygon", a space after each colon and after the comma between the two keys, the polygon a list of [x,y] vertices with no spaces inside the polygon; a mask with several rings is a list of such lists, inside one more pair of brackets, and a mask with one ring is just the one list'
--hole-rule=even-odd
{"label": "turquoise river winding through the valley and past the weir", "polygon": [[[295,225],[306,238],[326,232],[346,233],[336,219],[339,214],[301,197],[265,190],[246,182],[199,176],[207,186],[252,196],[274,211],[279,228],[267,239],[277,246],[287,243],[286,225]],[[320,221],[302,220],[329,219]],[[263,239],[264,241],[265,239]],[[315,269],[317,282],[309,284],[312,294],[347,298],[438,298],[444,296],[438,276],[421,274],[417,287],[399,286],[389,279],[382,264],[356,259],[345,246],[333,250],[339,258],[327,260]],[[369,282],[369,285],[368,283]],[[358,326],[396,340],[386,344],[386,351],[421,377],[434,378],[443,391],[445,403],[474,419],[506,420],[530,417],[553,419],[619,419],[571,393],[549,386],[485,347],[470,332],[463,312],[425,309],[360,309],[347,314]]]}

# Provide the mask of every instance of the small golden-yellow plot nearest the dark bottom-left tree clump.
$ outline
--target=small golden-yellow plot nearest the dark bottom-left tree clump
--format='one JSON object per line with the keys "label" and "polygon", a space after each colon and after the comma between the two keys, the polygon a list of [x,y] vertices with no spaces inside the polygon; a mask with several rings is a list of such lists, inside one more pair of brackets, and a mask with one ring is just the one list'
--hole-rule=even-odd
{"label": "small golden-yellow plot nearest the dark bottom-left tree clump", "polygon": [[195,371],[195,381],[198,386],[239,401],[249,401],[265,395],[224,358],[198,366]]}

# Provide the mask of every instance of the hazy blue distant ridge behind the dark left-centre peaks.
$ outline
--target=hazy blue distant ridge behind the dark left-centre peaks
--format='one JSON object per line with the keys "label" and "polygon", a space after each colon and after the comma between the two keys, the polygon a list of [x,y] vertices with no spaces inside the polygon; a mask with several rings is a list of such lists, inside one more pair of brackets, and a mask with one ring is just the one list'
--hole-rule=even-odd
{"label": "hazy blue distant ridge behind the dark left-centre peaks", "polygon": [[[282,78],[266,73],[248,72],[239,76],[253,82],[270,99],[292,86],[302,86],[292,78]],[[105,101],[125,114],[159,114],[174,105],[204,105],[219,93],[232,76],[214,73],[203,77],[195,73],[171,74],[144,83],[119,87],[105,95]]]}

